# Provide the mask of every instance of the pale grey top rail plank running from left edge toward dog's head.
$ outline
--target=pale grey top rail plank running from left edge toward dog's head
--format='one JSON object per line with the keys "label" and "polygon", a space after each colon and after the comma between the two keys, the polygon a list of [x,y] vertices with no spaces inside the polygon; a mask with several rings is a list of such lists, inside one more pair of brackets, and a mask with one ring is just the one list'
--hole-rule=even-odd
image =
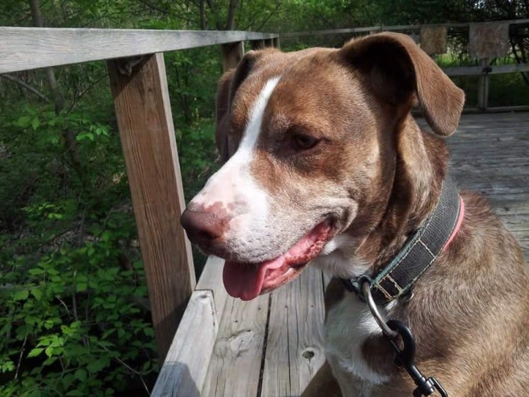
{"label": "pale grey top rail plank running from left edge toward dog's head", "polygon": [[0,73],[274,37],[243,31],[0,27]]}

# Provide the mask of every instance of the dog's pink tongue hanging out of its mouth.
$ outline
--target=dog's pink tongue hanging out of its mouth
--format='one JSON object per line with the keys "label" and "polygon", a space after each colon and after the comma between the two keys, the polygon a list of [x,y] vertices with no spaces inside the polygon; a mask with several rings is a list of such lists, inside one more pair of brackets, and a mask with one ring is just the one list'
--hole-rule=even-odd
{"label": "dog's pink tongue hanging out of its mouth", "polygon": [[[318,224],[289,251],[266,262],[252,264],[227,260],[222,272],[224,287],[234,298],[242,300],[256,298],[261,292],[267,271],[279,269],[285,265],[293,267],[309,262],[320,253],[323,244],[325,244],[322,237],[327,236],[328,231],[329,226],[323,223]],[[317,242],[321,244],[316,244]]]}

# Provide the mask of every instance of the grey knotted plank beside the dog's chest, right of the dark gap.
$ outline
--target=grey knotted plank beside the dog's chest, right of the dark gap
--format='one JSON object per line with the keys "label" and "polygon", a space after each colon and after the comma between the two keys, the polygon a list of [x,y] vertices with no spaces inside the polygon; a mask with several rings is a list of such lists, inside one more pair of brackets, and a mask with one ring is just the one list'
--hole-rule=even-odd
{"label": "grey knotted plank beside the dog's chest, right of the dark gap", "polygon": [[299,396],[325,362],[323,278],[307,267],[272,292],[261,396]]}

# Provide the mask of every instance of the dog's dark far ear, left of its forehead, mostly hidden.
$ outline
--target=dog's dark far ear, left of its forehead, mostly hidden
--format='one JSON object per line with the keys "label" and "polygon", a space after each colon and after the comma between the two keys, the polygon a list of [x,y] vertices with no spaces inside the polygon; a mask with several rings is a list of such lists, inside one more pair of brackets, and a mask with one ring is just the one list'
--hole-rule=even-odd
{"label": "dog's dark far ear, left of its forehead, mostly hidden", "polygon": [[229,113],[231,101],[242,84],[251,72],[251,69],[260,58],[260,52],[249,51],[240,60],[237,68],[225,72],[218,82],[216,97],[216,128],[215,142],[220,154],[220,161],[227,162],[229,159]]}

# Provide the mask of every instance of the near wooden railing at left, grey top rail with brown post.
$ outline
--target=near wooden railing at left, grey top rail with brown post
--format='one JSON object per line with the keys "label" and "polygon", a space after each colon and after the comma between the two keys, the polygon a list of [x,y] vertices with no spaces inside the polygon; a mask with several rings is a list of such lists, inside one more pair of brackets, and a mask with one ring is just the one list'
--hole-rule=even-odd
{"label": "near wooden railing at left, grey top rail with brown post", "polygon": [[278,46],[278,35],[0,27],[0,73],[107,62],[160,360],[196,283],[178,222],[184,193],[162,52],[220,44],[226,70],[242,57],[244,41],[252,48]]}

